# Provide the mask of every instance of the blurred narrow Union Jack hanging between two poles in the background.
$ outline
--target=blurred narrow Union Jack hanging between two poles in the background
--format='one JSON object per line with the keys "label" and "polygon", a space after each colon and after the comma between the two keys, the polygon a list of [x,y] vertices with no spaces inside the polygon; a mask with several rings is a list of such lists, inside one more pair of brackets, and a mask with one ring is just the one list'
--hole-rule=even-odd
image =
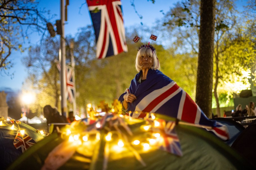
{"label": "blurred narrow Union Jack hanging between two poles in the background", "polygon": [[75,95],[74,95],[74,72],[72,68],[66,67],[66,88],[67,88],[67,99],[70,103],[73,103]]}

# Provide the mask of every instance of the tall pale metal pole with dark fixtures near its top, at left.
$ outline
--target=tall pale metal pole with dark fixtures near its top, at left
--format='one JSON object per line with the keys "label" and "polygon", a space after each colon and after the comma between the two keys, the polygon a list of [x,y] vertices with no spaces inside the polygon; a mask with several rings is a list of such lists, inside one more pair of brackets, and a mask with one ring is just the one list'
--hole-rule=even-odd
{"label": "tall pale metal pole with dark fixtures near its top, at left", "polygon": [[60,19],[62,34],[60,35],[60,51],[61,51],[61,114],[66,117],[66,43],[64,34],[65,10],[64,0],[60,0]]}

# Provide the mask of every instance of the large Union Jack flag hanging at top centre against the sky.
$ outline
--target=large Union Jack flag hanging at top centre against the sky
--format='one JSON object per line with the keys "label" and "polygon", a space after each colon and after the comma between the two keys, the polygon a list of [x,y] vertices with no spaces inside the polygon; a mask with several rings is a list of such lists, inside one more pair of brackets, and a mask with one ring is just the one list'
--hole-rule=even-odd
{"label": "large Union Jack flag hanging at top centre against the sky", "polygon": [[98,59],[127,52],[120,0],[86,0],[96,37]]}

